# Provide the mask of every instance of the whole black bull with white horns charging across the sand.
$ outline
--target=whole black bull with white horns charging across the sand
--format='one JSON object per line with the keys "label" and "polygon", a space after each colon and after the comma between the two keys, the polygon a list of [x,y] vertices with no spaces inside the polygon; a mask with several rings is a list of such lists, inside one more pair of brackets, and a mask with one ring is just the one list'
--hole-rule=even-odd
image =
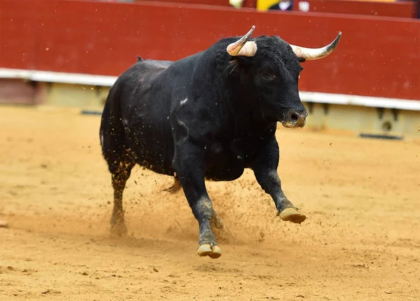
{"label": "whole black bull with white horns charging across the sand", "polygon": [[283,221],[306,219],[281,190],[276,123],[304,126],[300,62],[330,54],[341,32],[323,48],[303,48],[277,36],[251,38],[254,28],[176,62],[139,58],[111,87],[100,139],[112,175],[112,232],[127,231],[123,190],[136,164],[174,176],[169,191],[183,188],[200,225],[201,256],[221,255],[205,179],[232,181],[250,168]]}

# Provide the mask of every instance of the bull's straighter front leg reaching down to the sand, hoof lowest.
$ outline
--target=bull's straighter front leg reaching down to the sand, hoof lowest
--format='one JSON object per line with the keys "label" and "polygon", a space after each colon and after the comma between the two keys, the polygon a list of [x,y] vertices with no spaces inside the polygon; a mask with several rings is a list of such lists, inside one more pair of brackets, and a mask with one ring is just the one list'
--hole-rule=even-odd
{"label": "bull's straighter front leg reaching down to the sand, hoof lowest", "polygon": [[221,248],[218,247],[210,227],[211,219],[216,214],[204,182],[204,149],[183,141],[175,147],[173,166],[188,204],[200,225],[197,254],[219,258],[222,255]]}

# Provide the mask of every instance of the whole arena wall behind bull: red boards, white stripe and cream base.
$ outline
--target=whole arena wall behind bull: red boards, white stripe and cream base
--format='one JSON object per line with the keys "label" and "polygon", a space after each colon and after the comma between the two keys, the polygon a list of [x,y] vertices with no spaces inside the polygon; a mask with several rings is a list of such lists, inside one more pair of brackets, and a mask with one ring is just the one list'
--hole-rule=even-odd
{"label": "whole arena wall behind bull: red boards, white stripe and cream base", "polygon": [[[326,45],[342,31],[332,55],[304,63],[302,100],[314,108],[313,114],[330,108],[326,115],[314,115],[312,125],[381,131],[381,118],[396,111],[397,116],[408,115],[392,118],[391,129],[416,134],[419,20],[71,0],[1,0],[0,17],[0,102],[100,107],[114,78],[137,55],[180,59],[225,36],[244,34],[251,25],[256,26],[254,36],[279,35],[307,47]],[[31,93],[22,96],[9,89],[4,97],[10,78],[22,78],[16,86],[29,85]],[[350,106],[365,107],[360,110],[373,114],[374,123],[344,122],[333,113]]]}

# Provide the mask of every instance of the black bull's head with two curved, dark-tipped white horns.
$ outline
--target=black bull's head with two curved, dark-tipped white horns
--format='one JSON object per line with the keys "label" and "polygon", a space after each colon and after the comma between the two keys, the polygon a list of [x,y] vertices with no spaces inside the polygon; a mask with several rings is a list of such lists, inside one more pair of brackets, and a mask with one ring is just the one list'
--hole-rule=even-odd
{"label": "black bull's head with two curved, dark-tipped white horns", "polygon": [[230,73],[237,69],[235,73],[252,80],[253,97],[258,98],[262,116],[279,121],[284,127],[304,127],[308,113],[297,87],[303,69],[300,62],[329,55],[337,47],[341,31],[323,48],[304,48],[276,36],[260,36],[249,41],[254,29],[255,26],[226,48],[235,57]]}

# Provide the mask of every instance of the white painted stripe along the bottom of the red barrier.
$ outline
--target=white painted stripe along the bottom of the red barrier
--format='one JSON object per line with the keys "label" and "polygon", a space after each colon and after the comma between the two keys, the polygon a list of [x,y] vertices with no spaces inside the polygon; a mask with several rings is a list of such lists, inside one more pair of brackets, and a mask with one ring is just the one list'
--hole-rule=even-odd
{"label": "white painted stripe along the bottom of the red barrier", "polygon": [[[24,78],[39,82],[69,83],[77,85],[99,85],[111,87],[117,76],[98,76],[83,73],[64,73],[23,69],[0,68],[0,78]],[[331,94],[321,92],[300,92],[302,102],[320,104],[342,104],[346,106],[369,106],[377,108],[420,111],[420,100],[395,99],[385,97],[367,97],[347,94]]]}

